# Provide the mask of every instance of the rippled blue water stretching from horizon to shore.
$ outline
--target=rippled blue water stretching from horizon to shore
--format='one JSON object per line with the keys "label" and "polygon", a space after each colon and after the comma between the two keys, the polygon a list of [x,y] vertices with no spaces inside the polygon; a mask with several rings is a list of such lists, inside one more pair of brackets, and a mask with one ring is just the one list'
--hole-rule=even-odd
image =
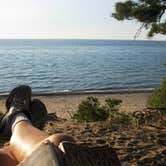
{"label": "rippled blue water stretching from horizon to shore", "polygon": [[164,63],[159,41],[0,40],[0,92],[154,88]]}

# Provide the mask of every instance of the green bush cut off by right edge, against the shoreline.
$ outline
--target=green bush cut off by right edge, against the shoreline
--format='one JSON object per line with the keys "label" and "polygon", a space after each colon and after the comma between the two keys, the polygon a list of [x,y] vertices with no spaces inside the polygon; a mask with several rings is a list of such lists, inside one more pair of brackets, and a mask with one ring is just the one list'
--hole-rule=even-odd
{"label": "green bush cut off by right edge, against the shoreline", "polygon": [[165,108],[166,109],[166,78],[163,79],[162,86],[154,90],[147,101],[147,106],[150,108]]}

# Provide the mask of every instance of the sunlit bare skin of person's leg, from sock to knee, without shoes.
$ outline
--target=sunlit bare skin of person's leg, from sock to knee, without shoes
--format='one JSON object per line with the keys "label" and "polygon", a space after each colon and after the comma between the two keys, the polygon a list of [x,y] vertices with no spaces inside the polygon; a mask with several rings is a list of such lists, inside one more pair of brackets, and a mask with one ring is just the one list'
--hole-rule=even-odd
{"label": "sunlit bare skin of person's leg, from sock to knee, without shoes", "polygon": [[55,145],[57,151],[58,145],[62,141],[74,142],[71,136],[65,134],[54,134],[48,136],[43,131],[35,128],[28,121],[21,121],[15,125],[10,139],[10,149],[16,159],[20,162],[29,156],[32,151],[43,141],[49,140]]}

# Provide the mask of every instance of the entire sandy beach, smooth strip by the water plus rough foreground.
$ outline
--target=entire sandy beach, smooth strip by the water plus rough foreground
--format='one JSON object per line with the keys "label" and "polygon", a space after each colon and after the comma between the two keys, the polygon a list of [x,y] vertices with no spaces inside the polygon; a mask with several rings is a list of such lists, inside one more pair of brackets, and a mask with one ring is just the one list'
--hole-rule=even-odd
{"label": "entire sandy beach, smooth strip by the water plus rough foreground", "polygon": [[[66,133],[74,136],[77,142],[89,146],[113,147],[121,162],[128,165],[164,165],[166,163],[166,118],[148,125],[121,126],[110,121],[79,123],[70,115],[87,96],[95,96],[104,103],[106,98],[122,99],[122,111],[141,111],[151,93],[118,94],[66,94],[35,95],[48,109],[48,121],[44,131],[48,134]],[[5,97],[1,96],[0,109],[5,110]],[[4,142],[1,142],[3,145]]]}

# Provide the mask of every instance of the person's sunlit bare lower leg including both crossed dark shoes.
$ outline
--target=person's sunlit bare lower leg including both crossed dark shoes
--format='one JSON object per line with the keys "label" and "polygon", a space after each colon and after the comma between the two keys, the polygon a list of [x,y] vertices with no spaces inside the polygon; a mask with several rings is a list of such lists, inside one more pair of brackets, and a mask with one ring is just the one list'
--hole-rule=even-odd
{"label": "person's sunlit bare lower leg including both crossed dark shoes", "polygon": [[[6,100],[6,108],[7,111],[0,121],[0,134],[4,139],[10,139],[11,152],[18,161],[22,161],[48,137],[36,128],[43,127],[47,110],[41,101],[31,101],[31,88],[26,85],[16,87],[10,92]],[[57,145],[58,141],[63,140],[63,135],[48,139]]]}

